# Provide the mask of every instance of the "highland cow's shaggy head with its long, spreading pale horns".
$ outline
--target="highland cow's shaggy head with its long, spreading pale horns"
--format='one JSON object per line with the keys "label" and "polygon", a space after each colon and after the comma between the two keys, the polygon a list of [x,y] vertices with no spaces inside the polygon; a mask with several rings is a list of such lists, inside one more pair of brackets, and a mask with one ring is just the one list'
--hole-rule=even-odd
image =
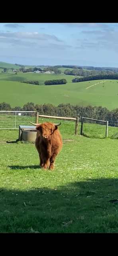
{"label": "highland cow's shaggy head with its long, spreading pale horns", "polygon": [[34,124],[32,122],[30,123],[36,126],[36,130],[40,133],[43,140],[49,140],[53,132],[57,130],[59,125],[61,125],[61,123],[53,124],[51,122],[45,122],[43,124]]}

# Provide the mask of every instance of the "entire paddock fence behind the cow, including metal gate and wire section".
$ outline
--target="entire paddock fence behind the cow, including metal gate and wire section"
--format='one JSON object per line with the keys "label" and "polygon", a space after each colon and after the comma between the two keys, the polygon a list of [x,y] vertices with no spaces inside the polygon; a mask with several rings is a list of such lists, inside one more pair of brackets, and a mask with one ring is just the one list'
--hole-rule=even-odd
{"label": "entire paddock fence behind the cow, including metal gate and wire section", "polygon": [[[37,116],[38,115],[38,116]],[[19,126],[30,126],[29,121],[37,123],[43,118],[69,120],[75,122],[75,134],[80,133],[91,138],[106,138],[118,133],[118,121],[98,120],[85,117],[67,118],[63,116],[41,115],[35,111],[0,111],[0,129],[18,129]],[[48,122],[49,122],[48,121]],[[81,122],[81,126],[79,124]],[[79,124],[79,125],[78,125]],[[78,130],[79,128],[79,130]]]}

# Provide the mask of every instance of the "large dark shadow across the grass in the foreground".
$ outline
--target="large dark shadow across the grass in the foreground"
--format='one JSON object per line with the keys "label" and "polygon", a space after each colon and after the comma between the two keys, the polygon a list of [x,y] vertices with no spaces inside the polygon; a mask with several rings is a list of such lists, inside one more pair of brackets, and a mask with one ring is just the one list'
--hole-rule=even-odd
{"label": "large dark shadow across the grass in the foreground", "polygon": [[116,233],[118,203],[110,200],[117,198],[115,178],[74,182],[56,189],[40,184],[26,190],[0,188],[0,232]]}

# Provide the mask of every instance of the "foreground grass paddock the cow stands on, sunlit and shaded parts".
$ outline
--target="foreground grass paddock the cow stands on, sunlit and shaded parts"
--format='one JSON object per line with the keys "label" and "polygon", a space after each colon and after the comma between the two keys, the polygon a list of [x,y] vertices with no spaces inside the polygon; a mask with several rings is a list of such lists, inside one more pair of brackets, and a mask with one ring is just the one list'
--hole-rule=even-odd
{"label": "foreground grass paddock the cow stands on, sunlit and shaded parts", "polygon": [[118,140],[75,136],[74,122],[59,130],[54,171],[39,169],[33,143],[14,143],[18,130],[0,130],[0,232],[117,233]]}

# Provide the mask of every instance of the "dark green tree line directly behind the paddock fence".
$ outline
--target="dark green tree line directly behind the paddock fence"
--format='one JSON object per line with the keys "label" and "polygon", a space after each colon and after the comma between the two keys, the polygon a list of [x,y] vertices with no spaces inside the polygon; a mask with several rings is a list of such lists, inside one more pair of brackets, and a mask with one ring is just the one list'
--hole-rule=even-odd
{"label": "dark green tree line directly behind the paddock fence", "polygon": [[63,103],[59,104],[58,106],[53,106],[52,104],[34,104],[33,102],[28,102],[27,104],[24,104],[23,107],[16,106],[12,108],[10,104],[2,102],[0,103],[0,110],[37,111],[39,114],[47,114],[52,116],[84,116],[98,120],[118,121],[118,108],[108,110],[102,106],[74,106]]}

